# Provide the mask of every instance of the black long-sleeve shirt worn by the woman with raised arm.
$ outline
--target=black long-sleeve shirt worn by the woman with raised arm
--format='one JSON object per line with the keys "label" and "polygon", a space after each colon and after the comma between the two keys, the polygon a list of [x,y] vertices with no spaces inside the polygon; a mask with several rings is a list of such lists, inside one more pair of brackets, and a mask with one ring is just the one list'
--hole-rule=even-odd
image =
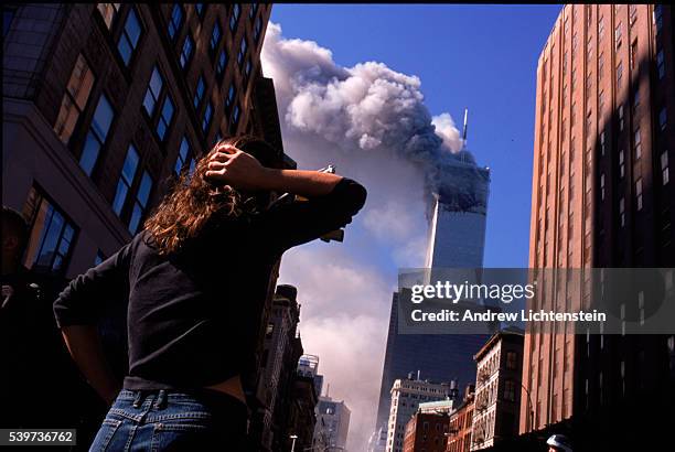
{"label": "black long-sleeve shirt worn by the woman with raised arm", "polygon": [[366,191],[342,179],[326,195],[257,215],[212,217],[184,250],[158,255],[147,232],[75,278],[54,302],[60,327],[94,324],[105,297],[128,298],[127,389],[197,388],[250,370],[270,272],[281,254],[351,223]]}

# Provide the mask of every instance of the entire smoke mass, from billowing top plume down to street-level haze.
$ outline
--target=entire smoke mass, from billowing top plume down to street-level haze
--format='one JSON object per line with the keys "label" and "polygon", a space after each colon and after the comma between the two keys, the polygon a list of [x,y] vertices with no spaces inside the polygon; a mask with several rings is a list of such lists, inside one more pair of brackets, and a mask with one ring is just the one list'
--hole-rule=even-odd
{"label": "entire smoke mass, from billowing top plume down to street-level haze", "polygon": [[261,58],[285,151],[299,168],[333,163],[368,190],[344,244],[291,250],[280,275],[298,287],[304,348],[352,409],[349,446],[362,451],[375,427],[396,268],[424,265],[425,206],[443,190],[443,169],[475,163],[450,115],[430,115],[416,76],[376,62],[340,66],[330,50],[286,39],[274,23]]}

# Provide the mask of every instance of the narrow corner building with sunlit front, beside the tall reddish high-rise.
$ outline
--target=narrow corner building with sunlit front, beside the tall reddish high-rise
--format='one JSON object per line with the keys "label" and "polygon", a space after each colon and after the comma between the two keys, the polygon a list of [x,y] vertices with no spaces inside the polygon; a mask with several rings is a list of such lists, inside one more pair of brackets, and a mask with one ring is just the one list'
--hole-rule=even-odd
{"label": "narrow corner building with sunlit front, beside the tall reddish high-rise", "polygon": [[518,433],[523,334],[495,333],[475,354],[476,381],[471,450],[490,448]]}

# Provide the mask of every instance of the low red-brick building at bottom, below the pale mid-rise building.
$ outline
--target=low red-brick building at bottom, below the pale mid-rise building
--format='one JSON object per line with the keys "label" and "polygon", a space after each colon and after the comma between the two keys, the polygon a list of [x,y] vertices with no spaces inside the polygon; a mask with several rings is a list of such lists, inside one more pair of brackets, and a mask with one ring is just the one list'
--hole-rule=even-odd
{"label": "low red-brick building at bottom, below the pale mid-rise building", "polygon": [[448,412],[416,412],[406,424],[404,452],[444,452]]}

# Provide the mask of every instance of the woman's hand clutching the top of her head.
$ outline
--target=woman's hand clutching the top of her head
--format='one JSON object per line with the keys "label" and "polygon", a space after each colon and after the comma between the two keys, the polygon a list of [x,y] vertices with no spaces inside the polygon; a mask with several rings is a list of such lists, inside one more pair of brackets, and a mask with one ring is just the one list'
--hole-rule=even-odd
{"label": "woman's hand clutching the top of her head", "polygon": [[256,191],[265,190],[267,175],[268,169],[255,157],[232,144],[224,144],[208,158],[205,177],[214,184]]}

